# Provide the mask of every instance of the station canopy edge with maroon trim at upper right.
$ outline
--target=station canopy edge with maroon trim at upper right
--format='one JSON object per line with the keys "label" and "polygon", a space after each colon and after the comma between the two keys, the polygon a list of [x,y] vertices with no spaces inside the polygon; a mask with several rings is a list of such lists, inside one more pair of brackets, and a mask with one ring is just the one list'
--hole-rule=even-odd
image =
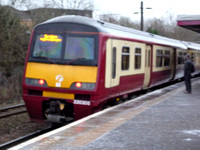
{"label": "station canopy edge with maroon trim at upper right", "polygon": [[200,15],[179,15],[177,25],[200,33]]}

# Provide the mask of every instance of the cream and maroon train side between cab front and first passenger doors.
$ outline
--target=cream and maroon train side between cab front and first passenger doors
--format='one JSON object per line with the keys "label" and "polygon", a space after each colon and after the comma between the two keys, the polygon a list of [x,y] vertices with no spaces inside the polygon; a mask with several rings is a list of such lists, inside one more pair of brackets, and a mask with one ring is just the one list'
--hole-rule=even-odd
{"label": "cream and maroon train side between cab front and first passenger doors", "polygon": [[140,90],[144,83],[145,44],[108,39],[105,88],[115,97]]}

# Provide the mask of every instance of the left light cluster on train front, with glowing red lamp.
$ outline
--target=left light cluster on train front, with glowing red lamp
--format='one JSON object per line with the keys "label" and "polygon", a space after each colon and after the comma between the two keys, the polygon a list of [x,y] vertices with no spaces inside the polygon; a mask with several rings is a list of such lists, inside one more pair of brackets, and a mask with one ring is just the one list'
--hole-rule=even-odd
{"label": "left light cluster on train front, with glowing red lamp", "polygon": [[47,87],[47,83],[44,79],[31,79],[31,78],[26,78],[25,79],[26,85],[31,85],[31,86],[41,86],[41,87]]}

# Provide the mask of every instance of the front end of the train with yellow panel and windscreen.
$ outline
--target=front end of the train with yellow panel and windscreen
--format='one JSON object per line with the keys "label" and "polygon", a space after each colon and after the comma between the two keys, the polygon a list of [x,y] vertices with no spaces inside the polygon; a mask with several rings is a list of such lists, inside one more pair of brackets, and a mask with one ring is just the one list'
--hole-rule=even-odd
{"label": "front end of the train with yellow panel and windscreen", "polygon": [[62,122],[93,112],[96,32],[72,23],[47,23],[34,29],[23,80],[23,99],[32,120]]}

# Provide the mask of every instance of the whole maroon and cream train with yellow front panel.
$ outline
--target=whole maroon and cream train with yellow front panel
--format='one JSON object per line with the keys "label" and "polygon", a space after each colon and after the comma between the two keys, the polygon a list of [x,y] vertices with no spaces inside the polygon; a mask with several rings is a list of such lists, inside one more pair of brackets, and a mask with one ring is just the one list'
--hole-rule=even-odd
{"label": "whole maroon and cream train with yellow front panel", "polygon": [[200,44],[83,16],[59,16],[32,31],[23,76],[30,119],[65,123],[183,77],[184,57],[200,72]]}

